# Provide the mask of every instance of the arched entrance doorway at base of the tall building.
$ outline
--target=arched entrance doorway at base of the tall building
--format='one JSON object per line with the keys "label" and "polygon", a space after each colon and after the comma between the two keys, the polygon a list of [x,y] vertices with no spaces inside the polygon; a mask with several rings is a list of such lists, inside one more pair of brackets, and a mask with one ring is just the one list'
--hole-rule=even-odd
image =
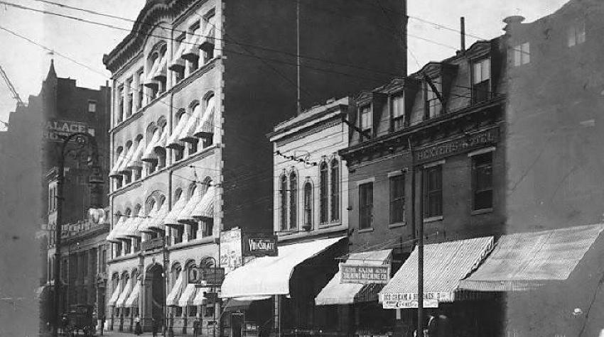
{"label": "arched entrance doorway at base of the tall building", "polygon": [[166,284],[162,275],[163,267],[158,264],[151,266],[146,272],[145,318],[149,319],[149,324],[151,324],[151,319],[155,319],[156,324],[163,322],[163,307],[166,304]]}

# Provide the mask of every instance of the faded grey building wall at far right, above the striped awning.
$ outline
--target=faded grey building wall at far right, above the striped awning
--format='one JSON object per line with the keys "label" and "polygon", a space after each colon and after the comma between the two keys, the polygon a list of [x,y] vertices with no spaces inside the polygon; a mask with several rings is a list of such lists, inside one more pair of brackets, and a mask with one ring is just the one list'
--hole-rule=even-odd
{"label": "faded grey building wall at far right, above the striped awning", "polygon": [[[530,62],[507,63],[509,232],[604,219],[603,13],[600,1],[569,1],[506,28],[507,48],[530,45]],[[570,46],[582,25],[585,42]]]}

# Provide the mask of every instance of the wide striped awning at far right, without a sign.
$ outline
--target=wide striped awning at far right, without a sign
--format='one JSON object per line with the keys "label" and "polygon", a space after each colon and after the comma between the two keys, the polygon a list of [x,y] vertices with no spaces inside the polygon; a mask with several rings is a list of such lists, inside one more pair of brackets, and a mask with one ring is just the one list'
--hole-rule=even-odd
{"label": "wide striped awning at far right, without a sign", "polygon": [[502,236],[485,263],[460,287],[500,292],[564,281],[603,229],[598,224]]}

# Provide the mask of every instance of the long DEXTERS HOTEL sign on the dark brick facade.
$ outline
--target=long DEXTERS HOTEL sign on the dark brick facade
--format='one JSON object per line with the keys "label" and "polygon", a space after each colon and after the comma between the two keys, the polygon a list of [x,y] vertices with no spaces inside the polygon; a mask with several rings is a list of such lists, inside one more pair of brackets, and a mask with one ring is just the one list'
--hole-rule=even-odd
{"label": "long DEXTERS HOTEL sign on the dark brick facade", "polygon": [[416,163],[429,162],[440,158],[445,158],[458,153],[463,153],[481,146],[493,145],[499,139],[499,128],[490,128],[477,133],[470,133],[446,142],[419,148],[414,151]]}

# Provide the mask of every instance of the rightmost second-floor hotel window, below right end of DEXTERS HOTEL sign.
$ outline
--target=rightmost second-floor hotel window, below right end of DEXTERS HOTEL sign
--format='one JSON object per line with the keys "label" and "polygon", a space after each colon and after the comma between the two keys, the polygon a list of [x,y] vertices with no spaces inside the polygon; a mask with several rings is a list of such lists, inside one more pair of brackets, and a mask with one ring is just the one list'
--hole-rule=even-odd
{"label": "rightmost second-floor hotel window, below right end of DEXTERS HOTEL sign", "polygon": [[472,157],[473,210],[491,209],[493,206],[492,152]]}

